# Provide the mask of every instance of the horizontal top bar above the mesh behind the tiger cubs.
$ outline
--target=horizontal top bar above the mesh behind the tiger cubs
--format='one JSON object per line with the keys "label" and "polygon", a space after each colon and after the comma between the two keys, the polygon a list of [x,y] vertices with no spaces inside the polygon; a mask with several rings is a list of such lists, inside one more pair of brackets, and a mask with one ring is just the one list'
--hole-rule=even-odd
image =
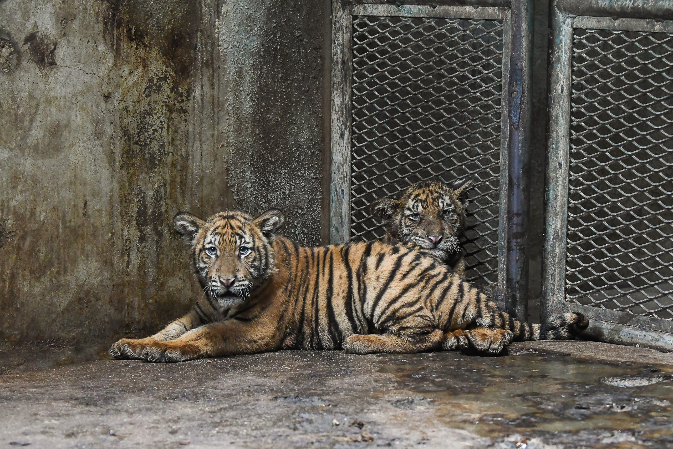
{"label": "horizontal top bar above the mesh behind the tiger cubs", "polygon": [[503,20],[506,8],[478,6],[353,5],[353,15]]}

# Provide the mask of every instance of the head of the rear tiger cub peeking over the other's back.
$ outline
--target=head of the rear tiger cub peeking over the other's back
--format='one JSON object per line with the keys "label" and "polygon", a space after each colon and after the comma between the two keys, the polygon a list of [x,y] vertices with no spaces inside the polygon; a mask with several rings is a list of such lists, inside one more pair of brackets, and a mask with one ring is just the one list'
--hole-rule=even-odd
{"label": "head of the rear tiger cub peeking over the other's back", "polygon": [[446,261],[460,252],[465,227],[468,179],[452,184],[431,180],[406,188],[400,199],[382,198],[371,203],[386,228],[386,238],[420,246]]}

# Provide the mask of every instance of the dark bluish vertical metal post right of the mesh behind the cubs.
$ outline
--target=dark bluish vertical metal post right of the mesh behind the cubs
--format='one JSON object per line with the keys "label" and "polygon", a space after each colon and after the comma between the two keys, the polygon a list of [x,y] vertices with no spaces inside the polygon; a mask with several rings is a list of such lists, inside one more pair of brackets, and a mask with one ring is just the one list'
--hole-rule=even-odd
{"label": "dark bluish vertical metal post right of the mesh behind the cubs", "polygon": [[528,320],[532,25],[532,0],[512,0],[505,308],[521,321]]}

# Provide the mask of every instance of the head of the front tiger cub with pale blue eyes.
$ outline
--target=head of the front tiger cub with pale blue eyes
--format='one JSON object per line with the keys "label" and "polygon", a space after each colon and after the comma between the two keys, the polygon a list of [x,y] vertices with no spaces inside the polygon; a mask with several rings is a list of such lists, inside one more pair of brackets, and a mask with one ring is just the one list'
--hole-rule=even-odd
{"label": "head of the front tiger cub with pale blue eyes", "polygon": [[257,218],[242,212],[220,212],[202,220],[186,212],[173,228],[192,247],[192,263],[204,293],[221,307],[233,307],[275,271],[271,243],[283,224],[283,213],[269,209]]}

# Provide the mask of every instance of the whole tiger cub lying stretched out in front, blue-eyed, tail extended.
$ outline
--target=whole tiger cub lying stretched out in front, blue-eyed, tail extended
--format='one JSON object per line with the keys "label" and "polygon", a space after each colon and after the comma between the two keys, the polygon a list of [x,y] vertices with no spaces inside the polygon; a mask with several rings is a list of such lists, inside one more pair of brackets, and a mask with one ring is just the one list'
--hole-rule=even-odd
{"label": "whole tiger cub lying stretched out in front, blue-eyed, tail extended", "polygon": [[384,242],[302,248],[277,236],[283,215],[240,212],[203,221],[178,213],[203,297],[182,318],[118,359],[184,361],[277,349],[413,353],[470,345],[497,353],[513,339],[563,339],[586,328],[581,314],[526,324],[416,246]]}

